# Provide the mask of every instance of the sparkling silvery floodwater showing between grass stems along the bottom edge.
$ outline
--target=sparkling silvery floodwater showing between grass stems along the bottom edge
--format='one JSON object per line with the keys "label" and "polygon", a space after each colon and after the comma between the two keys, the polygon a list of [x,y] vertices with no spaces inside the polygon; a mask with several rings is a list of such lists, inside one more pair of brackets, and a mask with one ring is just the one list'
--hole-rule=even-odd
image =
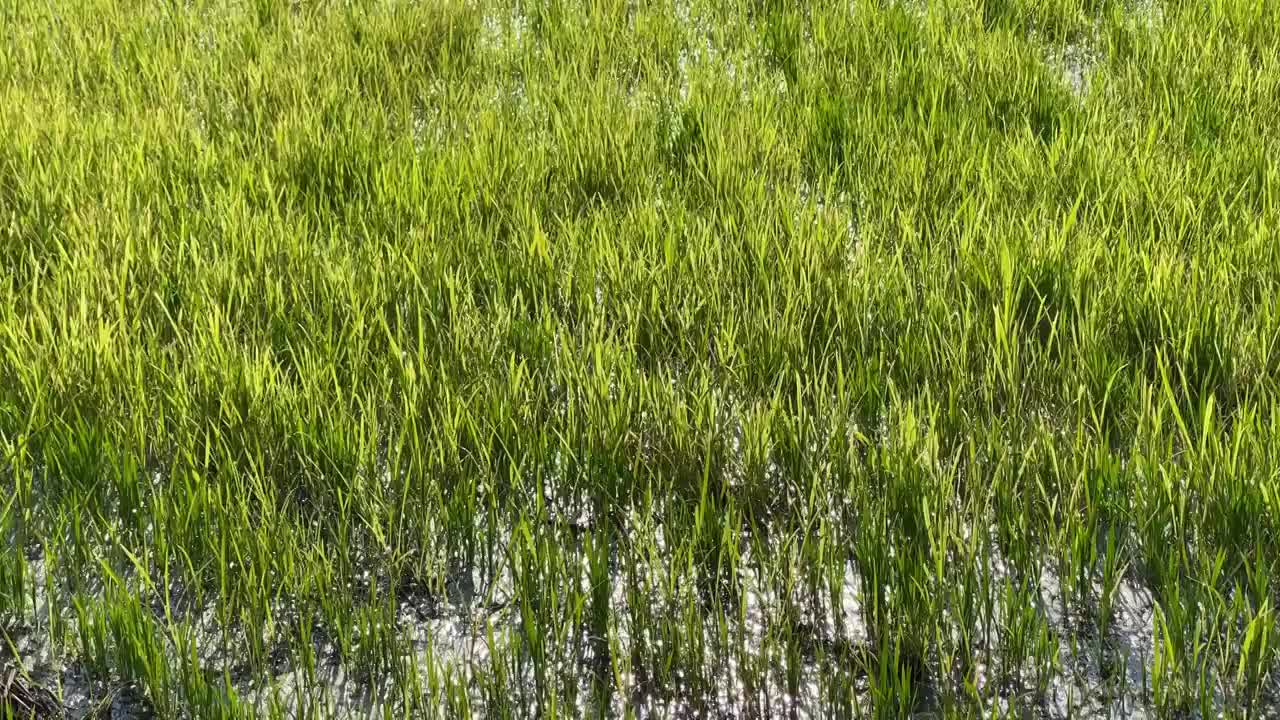
{"label": "sparkling silvery floodwater showing between grass stems along the bottom edge", "polygon": [[[591,523],[589,516],[581,515],[581,507],[563,509],[563,512],[575,514],[573,521]],[[660,528],[653,534],[660,542]],[[641,565],[634,570],[654,578],[668,575],[671,568],[662,565],[663,553],[662,547],[658,547],[652,566]],[[751,559],[745,556],[742,564],[750,565]],[[83,715],[105,698],[111,717],[122,720],[150,717],[145,693],[140,688],[93,678],[74,657],[61,656],[55,651],[49,642],[47,628],[40,621],[40,618],[47,618],[51,611],[44,591],[38,589],[45,587],[42,562],[33,561],[32,570],[37,588],[36,612],[23,626],[8,628],[10,637],[15,638],[15,647],[27,670],[45,687],[60,688],[63,702],[72,716]],[[584,566],[581,577],[584,587],[589,582],[589,571],[590,569]],[[998,553],[992,557],[988,573],[992,587],[1016,583]],[[762,582],[750,573],[744,574],[742,579],[740,611],[721,616],[705,615],[703,625],[705,648],[721,647],[724,637],[746,648],[777,648],[778,643],[773,641],[778,633],[792,632],[795,626],[805,628],[805,632],[814,638],[813,642],[818,643],[815,647],[856,648],[869,644],[870,633],[865,625],[868,588],[861,587],[863,583],[852,562],[846,566],[838,602],[813,603],[800,594],[786,597],[780,585]],[[660,643],[660,638],[655,641],[648,634],[649,628],[635,626],[626,620],[632,616],[632,609],[628,606],[632,596],[626,592],[627,577],[621,570],[614,570],[611,580],[611,612],[614,618],[622,619],[617,621],[616,635],[603,644],[593,644],[593,638],[582,638],[582,646],[602,647],[604,652],[609,652],[612,646],[613,652],[626,655],[640,639],[646,643]],[[1102,589],[1094,585],[1092,592],[1100,596]],[[512,650],[515,638],[521,632],[515,594],[509,573],[486,578],[476,569],[465,568],[453,570],[442,597],[433,597],[425,592],[406,593],[397,616],[397,632],[406,641],[404,661],[415,665],[420,678],[448,674],[461,680],[463,687],[471,687],[472,711],[483,715],[484,693],[470,683],[470,678],[490,670],[495,650],[502,652]],[[1130,575],[1120,579],[1114,596],[1115,607],[1110,630],[1107,637],[1097,638],[1096,633],[1091,634],[1088,623],[1073,616],[1073,611],[1068,610],[1071,603],[1064,597],[1060,578],[1051,568],[1043,569],[1036,589],[1034,611],[1046,621],[1057,656],[1057,669],[1047,678],[1046,692],[1037,700],[1029,694],[1010,694],[1007,688],[995,682],[995,669],[986,669],[979,664],[974,688],[977,693],[984,697],[984,702],[991,707],[1002,710],[1027,707],[1029,703],[1036,710],[1032,715],[1034,717],[1153,716],[1148,708],[1148,700],[1153,661],[1155,603],[1149,591]],[[654,597],[653,602],[655,605],[649,609],[650,611],[681,612],[680,607],[663,609],[658,597]],[[792,618],[791,628],[783,628],[787,607],[810,610],[805,611],[806,615],[799,624]],[[1000,633],[1007,626],[1004,612],[1005,609],[997,602],[991,626],[975,629],[979,635],[991,635],[992,647],[1002,642]],[[285,615],[287,609],[280,609],[280,614]],[[724,625],[717,621],[723,621]],[[216,670],[234,665],[236,659],[224,656],[224,650],[216,639],[219,633],[212,612],[207,610],[202,612],[192,626],[206,669]],[[74,633],[72,621],[68,637],[76,637]],[[498,647],[490,647],[490,643],[498,643]],[[379,717],[388,706],[396,705],[397,698],[389,680],[369,682],[367,678],[352,673],[338,660],[338,652],[332,642],[317,637],[315,651],[316,671],[310,679],[301,669],[282,661],[269,684],[236,682],[237,693],[242,701],[256,705],[264,715],[275,703],[287,711],[287,716],[307,706],[328,708],[335,717]],[[827,705],[823,697],[826,669],[818,661],[820,655],[819,652],[817,656],[804,657],[799,673],[792,678],[785,678],[774,665],[778,657],[769,657],[767,653],[755,657],[750,652],[746,655],[709,652],[707,661],[713,664],[710,676],[714,678],[709,694],[705,691],[682,687],[680,675],[675,676],[662,692],[657,692],[635,673],[637,667],[632,667],[607,682],[611,687],[608,703],[613,716],[630,712],[636,717],[692,717],[710,711],[713,716],[719,717],[758,717],[762,716],[762,708],[767,708],[763,710],[764,716],[822,717]],[[759,661],[759,666],[741,667],[739,664],[744,657],[751,659],[753,662]],[[589,657],[580,656],[575,660],[568,655],[558,667],[564,676],[577,674],[580,678],[582,692],[579,697],[584,703],[580,710],[585,714],[591,714],[588,703],[596,697],[593,689],[598,687],[599,678],[591,665]],[[1103,673],[1103,669],[1108,671]],[[1028,675],[1033,673],[1034,669],[1027,669]],[[512,680],[520,682],[517,678]],[[524,682],[532,685],[532,675],[524,678]],[[864,684],[858,692],[860,693],[858,702],[864,710],[874,706],[876,698],[870,688]],[[932,691],[924,692],[919,706],[922,717],[936,712],[934,702],[931,701],[934,696]],[[1222,697],[1215,697],[1212,702],[1220,708],[1225,706]],[[532,706],[529,710],[536,711]]]}

